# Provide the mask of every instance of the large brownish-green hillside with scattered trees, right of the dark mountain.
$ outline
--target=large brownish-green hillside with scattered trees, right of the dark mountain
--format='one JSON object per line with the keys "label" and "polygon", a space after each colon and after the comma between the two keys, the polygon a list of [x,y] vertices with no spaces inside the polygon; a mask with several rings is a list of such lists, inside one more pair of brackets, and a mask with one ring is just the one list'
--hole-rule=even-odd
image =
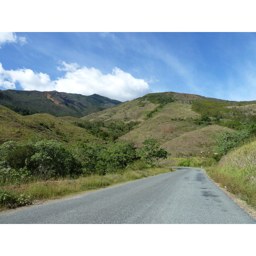
{"label": "large brownish-green hillside with scattered trees, right of the dark mountain", "polygon": [[[151,93],[80,120],[105,124],[139,121],[139,125],[117,141],[131,142],[138,148],[145,139],[154,138],[173,157],[199,157],[201,151],[209,152],[215,148],[213,141],[208,140],[211,134],[225,130],[232,132],[230,123],[251,118],[244,109],[251,108],[252,103],[186,93]],[[209,116],[210,125],[197,121],[202,115]]]}

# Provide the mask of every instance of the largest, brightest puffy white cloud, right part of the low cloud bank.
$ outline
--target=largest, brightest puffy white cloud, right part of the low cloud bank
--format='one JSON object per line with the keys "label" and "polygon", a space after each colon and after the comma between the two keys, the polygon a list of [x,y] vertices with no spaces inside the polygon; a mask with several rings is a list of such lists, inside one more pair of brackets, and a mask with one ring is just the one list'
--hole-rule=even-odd
{"label": "largest, brightest puffy white cloud, right part of the low cloud bank", "polygon": [[55,81],[55,90],[68,93],[93,93],[120,101],[131,100],[150,91],[147,82],[136,79],[119,68],[113,68],[111,74],[103,75],[95,68],[82,67],[67,72],[64,77]]}

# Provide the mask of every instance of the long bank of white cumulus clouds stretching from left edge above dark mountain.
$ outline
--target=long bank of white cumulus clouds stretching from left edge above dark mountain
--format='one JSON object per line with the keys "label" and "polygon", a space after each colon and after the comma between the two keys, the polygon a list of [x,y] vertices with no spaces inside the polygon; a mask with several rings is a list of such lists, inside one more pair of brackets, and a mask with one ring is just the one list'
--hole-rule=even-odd
{"label": "long bank of white cumulus clouds stretching from left edge above dark mountain", "polygon": [[50,91],[92,95],[94,93],[111,99],[126,101],[143,96],[150,92],[148,83],[136,79],[130,73],[115,67],[111,74],[102,74],[96,68],[81,67],[76,63],[61,62],[60,71],[65,75],[51,80],[49,75],[35,73],[30,69],[4,70],[0,65],[0,87],[15,89],[19,83],[23,90]]}

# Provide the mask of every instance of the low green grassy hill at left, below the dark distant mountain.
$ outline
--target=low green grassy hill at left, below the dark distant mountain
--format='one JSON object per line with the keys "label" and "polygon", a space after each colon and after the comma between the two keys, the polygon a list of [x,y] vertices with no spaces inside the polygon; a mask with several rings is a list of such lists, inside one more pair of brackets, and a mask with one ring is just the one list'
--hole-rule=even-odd
{"label": "low green grassy hill at left, below the dark distant mountain", "polygon": [[35,136],[69,143],[75,143],[79,140],[102,143],[102,140],[99,140],[87,133],[83,128],[72,125],[64,119],[47,113],[21,116],[1,105],[0,128],[0,144],[8,140],[25,142]]}

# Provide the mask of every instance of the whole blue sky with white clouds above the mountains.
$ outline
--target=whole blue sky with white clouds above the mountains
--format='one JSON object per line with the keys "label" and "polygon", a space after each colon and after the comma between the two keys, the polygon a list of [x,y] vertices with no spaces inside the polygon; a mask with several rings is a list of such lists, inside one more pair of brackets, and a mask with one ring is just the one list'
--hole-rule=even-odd
{"label": "whole blue sky with white clouds above the mountains", "polygon": [[0,89],[256,100],[256,33],[1,32]]}

